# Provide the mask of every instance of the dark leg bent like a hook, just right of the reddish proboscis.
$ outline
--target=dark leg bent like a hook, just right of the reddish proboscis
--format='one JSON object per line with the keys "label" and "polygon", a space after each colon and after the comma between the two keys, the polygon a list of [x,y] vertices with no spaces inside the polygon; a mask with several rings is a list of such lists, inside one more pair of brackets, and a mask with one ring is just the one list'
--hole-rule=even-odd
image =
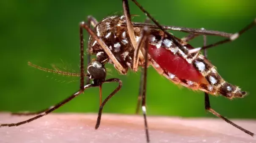
{"label": "dark leg bent like a hook, just right of the reddish proboscis", "polygon": [[122,81],[120,79],[117,79],[117,78],[107,79],[103,83],[107,83],[107,82],[118,82],[119,85],[118,85],[118,87],[116,87],[116,89],[112,93],[110,93],[110,95],[107,96],[107,98],[102,102],[101,106],[99,107],[99,114],[98,114],[97,122],[96,122],[96,125],[95,125],[95,129],[99,128],[103,107],[105,106],[107,101],[111,97],[113,97],[113,95],[115,95],[121,89],[121,87],[122,87]]}

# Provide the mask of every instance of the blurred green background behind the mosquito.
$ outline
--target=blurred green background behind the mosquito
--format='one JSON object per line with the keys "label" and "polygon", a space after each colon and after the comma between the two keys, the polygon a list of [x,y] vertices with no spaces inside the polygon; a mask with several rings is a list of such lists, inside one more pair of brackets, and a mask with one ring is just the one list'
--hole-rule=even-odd
{"label": "blurred green background behind the mosquito", "polygon": [[[139,0],[160,24],[237,32],[256,18],[255,0]],[[146,16],[129,2],[133,21]],[[98,21],[122,11],[121,0],[1,0],[0,1],[0,111],[37,111],[48,108],[79,89],[79,77],[63,77],[27,65],[52,64],[79,72],[79,22],[92,15]],[[182,38],[184,33],[173,32]],[[211,106],[228,118],[256,118],[256,27],[234,42],[209,49],[208,58],[228,82],[249,95],[230,101],[210,97]],[[87,33],[85,32],[87,35]],[[85,36],[86,36],[85,35]],[[208,36],[208,43],[222,40]],[[190,42],[202,46],[202,37]],[[85,45],[85,48],[87,45]],[[85,61],[86,62],[86,61]],[[123,81],[122,89],[106,104],[105,113],[134,114],[140,73],[119,75],[113,65],[107,78]],[[111,70],[110,70],[111,69]],[[104,98],[116,83],[103,85]],[[204,110],[204,94],[171,83],[149,68],[149,115],[214,117]],[[99,89],[85,91],[56,112],[97,112]]]}

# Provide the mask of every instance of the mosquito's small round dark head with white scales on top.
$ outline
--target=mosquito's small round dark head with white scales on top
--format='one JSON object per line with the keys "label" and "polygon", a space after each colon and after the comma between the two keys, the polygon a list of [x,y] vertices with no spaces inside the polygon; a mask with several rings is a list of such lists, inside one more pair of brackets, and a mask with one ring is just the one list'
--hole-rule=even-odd
{"label": "mosquito's small round dark head with white scales on top", "polygon": [[99,61],[92,61],[87,68],[87,72],[91,79],[105,80],[106,78],[106,69]]}

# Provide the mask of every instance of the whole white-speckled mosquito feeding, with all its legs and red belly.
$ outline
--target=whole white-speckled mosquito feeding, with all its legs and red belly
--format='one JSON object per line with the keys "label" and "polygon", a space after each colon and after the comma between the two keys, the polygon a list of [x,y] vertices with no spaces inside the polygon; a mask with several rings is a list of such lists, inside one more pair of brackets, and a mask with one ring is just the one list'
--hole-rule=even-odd
{"label": "whole white-speckled mosquito feeding, with all its legs and red belly", "polygon": [[[255,135],[254,133],[245,130],[237,124],[229,121],[210,107],[209,94],[223,95],[226,98],[231,99],[242,98],[246,95],[246,92],[242,91],[237,86],[231,85],[220,77],[215,66],[213,66],[207,60],[206,49],[236,40],[242,33],[256,24],[256,19],[235,34],[205,29],[161,26],[136,0],[132,0],[132,2],[134,2],[140,8],[140,10],[143,11],[146,16],[154,22],[155,25],[147,22],[132,23],[128,0],[122,1],[124,15],[109,16],[100,22],[96,21],[96,19],[94,19],[92,16],[88,16],[88,22],[80,22],[80,74],[45,69],[29,63],[30,66],[34,66],[44,71],[80,76],[80,90],[49,109],[33,113],[14,113],[17,115],[38,115],[18,123],[0,124],[0,127],[19,126],[21,124],[31,122],[49,114],[55,109],[58,109],[63,104],[71,101],[73,98],[83,93],[85,89],[90,87],[99,87],[101,104],[95,126],[95,129],[97,129],[101,121],[103,107],[107,101],[121,89],[122,86],[120,79],[105,79],[107,74],[105,64],[108,62],[110,64],[114,64],[114,67],[121,74],[127,74],[128,69],[137,72],[138,66],[143,66],[136,112],[138,113],[139,108],[141,107],[143,111],[147,142],[149,142],[149,129],[146,120],[146,79],[147,67],[149,65],[153,66],[159,74],[165,76],[175,84],[180,84],[193,90],[204,91],[205,109],[207,111],[211,112],[217,117],[220,117],[234,127],[237,127],[239,130],[242,130],[251,136]],[[90,26],[93,26],[94,29],[91,29]],[[83,29],[85,29],[91,35],[88,41],[88,53],[89,55],[96,55],[96,59],[93,61],[91,61],[91,57],[88,56],[86,74],[84,73]],[[190,34],[182,39],[179,39],[174,37],[166,30],[176,30]],[[198,35],[204,36],[204,46],[200,48],[193,48],[187,42]],[[226,37],[226,39],[211,45],[206,45],[205,35],[216,35]],[[204,54],[201,54],[200,50],[204,50]],[[182,68],[176,68],[177,66]],[[187,70],[190,71],[189,74],[187,74]],[[84,80],[85,77],[87,77],[86,85]],[[90,84],[91,79],[93,81]],[[119,85],[102,102],[101,87],[103,83],[107,82],[118,82]]]}

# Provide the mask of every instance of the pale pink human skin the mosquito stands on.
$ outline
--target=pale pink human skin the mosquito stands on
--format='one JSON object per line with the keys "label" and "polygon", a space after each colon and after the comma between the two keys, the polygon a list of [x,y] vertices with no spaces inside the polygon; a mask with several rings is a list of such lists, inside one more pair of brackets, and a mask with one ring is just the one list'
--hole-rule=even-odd
{"label": "pale pink human skin the mosquito stands on", "polygon": [[[30,118],[0,113],[0,123]],[[0,143],[146,143],[143,117],[103,114],[95,130],[97,114],[48,114],[18,127],[1,127]],[[255,120],[232,121],[256,133]],[[148,117],[151,143],[256,143],[221,119]]]}

